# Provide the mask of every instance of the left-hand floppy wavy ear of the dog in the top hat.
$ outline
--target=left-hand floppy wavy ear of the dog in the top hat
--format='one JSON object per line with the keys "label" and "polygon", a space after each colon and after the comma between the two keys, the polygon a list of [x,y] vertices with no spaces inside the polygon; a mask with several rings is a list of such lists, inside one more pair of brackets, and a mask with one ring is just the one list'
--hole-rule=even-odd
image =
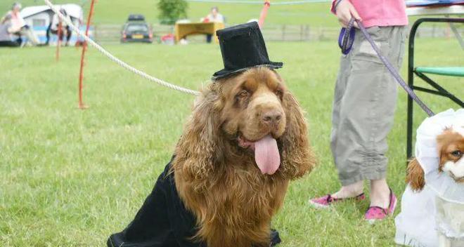
{"label": "left-hand floppy wavy ear of the dog in the top hat", "polygon": [[196,100],[193,112],[179,140],[173,168],[182,173],[183,180],[195,180],[195,191],[200,192],[216,176],[214,162],[221,160],[224,145],[219,133],[219,112],[222,104],[220,85],[210,84]]}

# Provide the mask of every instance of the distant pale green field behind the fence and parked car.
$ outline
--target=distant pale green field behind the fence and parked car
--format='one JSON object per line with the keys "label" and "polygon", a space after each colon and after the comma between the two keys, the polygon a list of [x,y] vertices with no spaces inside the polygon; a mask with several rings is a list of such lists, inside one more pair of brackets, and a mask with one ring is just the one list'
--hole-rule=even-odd
{"label": "distant pale green field behind the fence and parked car", "polygon": [[[256,1],[256,0],[250,0]],[[273,3],[285,0],[273,0]],[[84,15],[88,13],[90,0],[55,0],[54,4],[75,3],[84,6]],[[141,13],[152,23],[159,22],[157,0],[98,0],[96,1],[94,23],[95,24],[122,24],[130,13]],[[11,8],[13,1],[0,1],[0,13]],[[22,0],[23,6],[44,5],[42,0]],[[263,1],[264,3],[264,1]],[[256,4],[210,4],[210,3],[188,3],[188,18],[199,21],[205,17],[212,6],[218,6],[219,11],[226,17],[229,25],[247,22],[250,19],[259,18],[262,5]],[[330,2],[302,4],[290,6],[272,6],[269,8],[266,25],[273,24],[304,24],[312,27],[333,27],[338,25],[335,18],[330,17]]]}

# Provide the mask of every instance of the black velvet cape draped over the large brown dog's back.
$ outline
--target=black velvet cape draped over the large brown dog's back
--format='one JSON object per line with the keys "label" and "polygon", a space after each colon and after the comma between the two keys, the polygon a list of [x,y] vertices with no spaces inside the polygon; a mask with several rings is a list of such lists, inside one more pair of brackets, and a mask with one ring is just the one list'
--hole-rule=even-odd
{"label": "black velvet cape draped over the large brown dog's back", "polygon": [[[170,168],[171,162],[134,220],[124,231],[110,236],[108,247],[206,247],[206,243],[191,241],[196,233],[195,216],[183,206]],[[272,246],[280,242],[278,232],[272,231]]]}

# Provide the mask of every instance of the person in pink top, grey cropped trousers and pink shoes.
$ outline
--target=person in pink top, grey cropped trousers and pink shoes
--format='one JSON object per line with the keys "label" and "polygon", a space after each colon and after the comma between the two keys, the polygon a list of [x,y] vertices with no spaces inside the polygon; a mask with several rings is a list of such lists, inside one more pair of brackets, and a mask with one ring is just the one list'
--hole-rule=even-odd
{"label": "person in pink top, grey cropped trousers and pink shoes", "polygon": [[[396,69],[401,67],[406,39],[403,0],[335,0],[331,11],[340,25],[362,21]],[[355,25],[357,27],[357,25]],[[359,29],[352,51],[343,55],[333,100],[330,147],[342,187],[310,199],[319,208],[345,199],[363,200],[363,181],[370,181],[370,206],[364,217],[375,221],[394,213],[397,198],[387,185],[387,134],[392,128],[397,84]]]}

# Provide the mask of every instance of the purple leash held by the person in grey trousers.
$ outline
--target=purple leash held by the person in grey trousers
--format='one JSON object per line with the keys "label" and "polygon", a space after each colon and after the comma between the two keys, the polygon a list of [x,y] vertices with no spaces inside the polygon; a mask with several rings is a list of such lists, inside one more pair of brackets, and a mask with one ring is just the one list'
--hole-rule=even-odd
{"label": "purple leash held by the person in grey trousers", "polygon": [[[342,29],[342,32],[340,33],[340,36],[339,36],[339,39],[338,39],[338,44],[339,44],[340,48],[342,48],[342,53],[345,54],[345,55],[347,55],[349,53],[349,51],[352,48],[352,44],[354,42],[354,28],[353,28],[354,21],[355,21],[354,18],[352,18],[352,20],[349,21],[348,27],[346,29],[345,28]],[[432,112],[432,110],[429,107],[427,107],[427,105],[425,105],[424,102],[422,102],[422,100],[420,100],[420,98],[418,98],[418,95],[416,95],[414,93],[414,91],[408,86],[408,84],[406,84],[406,82],[401,78],[401,76],[397,72],[397,69],[394,69],[393,65],[387,60],[387,58],[385,58],[382,55],[382,53],[380,52],[380,49],[378,48],[378,46],[373,41],[370,34],[368,34],[368,32],[366,31],[366,28],[362,25],[362,23],[359,20],[356,20],[356,22],[358,23],[359,29],[361,29],[361,32],[366,37],[367,41],[370,43],[370,46],[372,46],[375,53],[377,53],[378,57],[383,62],[385,67],[387,67],[389,72],[392,73],[394,79],[398,81],[399,85],[401,85],[401,87],[404,88],[406,93],[408,93],[408,95],[416,103],[418,103],[420,108],[422,108],[424,110],[424,112],[427,113],[427,115],[433,116],[434,113]]]}

